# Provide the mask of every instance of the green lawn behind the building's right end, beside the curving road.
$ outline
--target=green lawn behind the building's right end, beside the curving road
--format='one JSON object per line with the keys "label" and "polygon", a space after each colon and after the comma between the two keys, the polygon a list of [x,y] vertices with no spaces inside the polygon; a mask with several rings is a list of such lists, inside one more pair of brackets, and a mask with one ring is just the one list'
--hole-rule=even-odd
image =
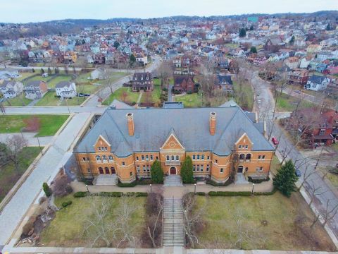
{"label": "green lawn behind the building's right end, beside the curving road", "polygon": [[237,81],[233,81],[234,99],[242,109],[251,111],[253,107],[253,91],[249,83],[240,85]]}

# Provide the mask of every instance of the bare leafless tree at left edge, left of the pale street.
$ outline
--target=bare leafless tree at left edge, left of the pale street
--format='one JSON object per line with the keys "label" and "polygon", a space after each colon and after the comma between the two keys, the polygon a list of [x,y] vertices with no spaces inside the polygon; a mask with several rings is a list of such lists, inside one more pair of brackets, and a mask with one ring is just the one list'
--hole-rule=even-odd
{"label": "bare leafless tree at left edge, left of the pale street", "polygon": [[20,160],[23,159],[20,156],[20,151],[23,150],[23,147],[27,146],[27,140],[23,135],[11,135],[7,138],[5,144],[8,149],[8,159],[13,162],[15,171],[20,171]]}

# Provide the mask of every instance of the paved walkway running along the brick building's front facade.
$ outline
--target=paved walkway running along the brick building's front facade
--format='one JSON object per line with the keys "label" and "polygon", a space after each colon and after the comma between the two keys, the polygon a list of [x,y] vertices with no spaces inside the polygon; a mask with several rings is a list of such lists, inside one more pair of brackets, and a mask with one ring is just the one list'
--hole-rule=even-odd
{"label": "paved walkway running along the brick building's front facade", "polygon": [[[81,182],[74,181],[71,183],[73,190],[77,191],[87,191],[86,185]],[[118,186],[88,186],[91,193],[99,193],[101,191],[121,191],[123,193],[127,192],[149,192],[150,186],[148,185],[139,185],[135,187],[118,187]],[[151,186],[151,191],[159,191],[163,189],[163,184],[153,184]],[[254,192],[270,192],[273,190],[273,181],[266,181],[263,183],[258,183],[254,186]],[[196,184],[196,192],[205,192],[209,191],[252,191],[252,183],[247,184],[230,184],[230,186],[210,186],[210,185],[199,185]],[[164,197],[165,198],[182,198],[182,195],[187,192],[194,192],[194,184],[184,184],[183,186],[175,187],[165,187],[164,188]]]}

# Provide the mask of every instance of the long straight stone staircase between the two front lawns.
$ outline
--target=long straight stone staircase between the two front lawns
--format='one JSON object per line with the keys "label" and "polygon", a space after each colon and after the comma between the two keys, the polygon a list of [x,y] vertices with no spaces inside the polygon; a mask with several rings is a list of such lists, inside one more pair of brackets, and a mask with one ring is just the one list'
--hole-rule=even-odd
{"label": "long straight stone staircase between the two front lawns", "polygon": [[182,199],[164,198],[163,246],[184,246]]}

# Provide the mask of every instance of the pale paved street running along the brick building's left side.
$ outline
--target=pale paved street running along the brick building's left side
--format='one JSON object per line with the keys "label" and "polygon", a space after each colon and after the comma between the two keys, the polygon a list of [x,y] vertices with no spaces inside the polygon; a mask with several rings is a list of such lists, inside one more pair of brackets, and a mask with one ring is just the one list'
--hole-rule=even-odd
{"label": "pale paved street running along the brick building's left side", "polygon": [[52,140],[49,150],[39,159],[30,176],[4,207],[0,214],[0,246],[11,237],[28,208],[41,192],[42,183],[55,176],[58,169],[65,163],[65,159],[70,157],[71,152],[66,153],[66,151],[90,116],[89,113],[82,113],[70,120],[60,135]]}

